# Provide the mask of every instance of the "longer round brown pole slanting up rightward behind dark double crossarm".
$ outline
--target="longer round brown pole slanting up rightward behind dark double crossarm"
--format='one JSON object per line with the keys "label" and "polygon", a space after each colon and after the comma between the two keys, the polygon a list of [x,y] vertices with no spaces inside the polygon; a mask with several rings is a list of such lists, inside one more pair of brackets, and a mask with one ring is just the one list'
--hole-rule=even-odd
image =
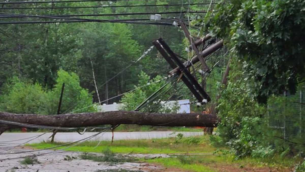
{"label": "longer round brown pole slanting up rightward behind dark double crossarm", "polygon": [[[203,58],[205,58],[206,56],[212,54],[213,52],[215,52],[216,50],[220,49],[221,47],[224,46],[223,44],[223,40],[221,39],[220,41],[218,41],[217,43],[214,43],[213,45],[211,45],[210,47],[206,48],[205,50],[203,50],[200,54]],[[193,57],[191,59],[191,62],[185,62],[184,66],[186,68],[189,68],[190,66],[192,66],[192,64],[194,65],[195,63],[199,62],[199,59],[197,56]],[[179,67],[171,70],[169,73],[173,74],[176,73],[179,70]]]}

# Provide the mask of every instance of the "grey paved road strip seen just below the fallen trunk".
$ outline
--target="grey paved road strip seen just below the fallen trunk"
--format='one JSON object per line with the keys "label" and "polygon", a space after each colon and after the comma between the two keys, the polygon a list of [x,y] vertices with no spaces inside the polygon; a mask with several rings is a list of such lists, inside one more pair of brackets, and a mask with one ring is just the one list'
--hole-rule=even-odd
{"label": "grey paved road strip seen just below the fallen trunk", "polygon": [[[184,136],[203,135],[203,132],[173,132],[173,131],[115,132],[114,140],[166,138],[166,137],[173,137],[178,133],[182,133]],[[43,134],[43,133],[3,133],[0,136],[0,148],[3,146],[8,146],[8,145],[23,144],[27,141],[28,141],[27,143],[40,143],[42,141],[50,140],[48,137],[52,135],[52,133],[46,133],[38,138],[35,138],[35,136],[38,136],[41,134]],[[57,133],[54,141],[56,141],[56,142],[74,142],[74,141],[84,139],[84,138],[94,135],[94,134],[96,134],[96,133],[95,132],[84,133],[83,135],[80,135],[78,133]],[[29,138],[29,137],[32,137],[32,138]],[[93,140],[111,140],[111,137],[112,137],[112,133],[106,132],[106,133],[102,133],[90,140],[91,141],[93,141]],[[29,138],[29,139],[26,139],[26,138]],[[20,139],[24,139],[24,140],[20,140]],[[18,141],[13,141],[13,140],[18,140]]]}

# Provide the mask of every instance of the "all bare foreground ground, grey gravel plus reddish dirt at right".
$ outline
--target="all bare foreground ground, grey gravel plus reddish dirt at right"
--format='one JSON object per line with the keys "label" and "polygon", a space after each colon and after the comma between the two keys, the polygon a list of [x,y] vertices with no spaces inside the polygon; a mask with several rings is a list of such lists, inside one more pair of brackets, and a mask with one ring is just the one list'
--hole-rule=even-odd
{"label": "all bare foreground ground, grey gravel plus reddish dirt at right", "polygon": [[[21,152],[29,151],[29,147],[19,147],[10,150],[9,152]],[[3,152],[0,152],[3,153]],[[48,153],[43,156],[41,154]],[[33,165],[22,165],[20,161],[23,159],[11,159],[3,160],[0,162],[0,171],[2,172],[179,172],[186,171],[175,168],[165,168],[159,164],[149,164],[149,163],[119,163],[119,164],[109,164],[95,162],[91,160],[80,159],[79,156],[81,152],[71,152],[71,151],[54,151],[54,150],[44,150],[35,152],[38,158],[39,164]],[[30,153],[21,154],[9,154],[0,155],[0,159],[5,158],[15,158],[21,156],[33,155]],[[76,157],[77,159],[65,160],[67,156]],[[168,158],[169,155],[166,154],[131,154],[129,156],[134,156],[136,158]],[[221,164],[206,164],[211,168],[218,170],[220,172],[288,172],[291,169],[271,169],[269,167],[241,167],[235,165],[221,165]]]}

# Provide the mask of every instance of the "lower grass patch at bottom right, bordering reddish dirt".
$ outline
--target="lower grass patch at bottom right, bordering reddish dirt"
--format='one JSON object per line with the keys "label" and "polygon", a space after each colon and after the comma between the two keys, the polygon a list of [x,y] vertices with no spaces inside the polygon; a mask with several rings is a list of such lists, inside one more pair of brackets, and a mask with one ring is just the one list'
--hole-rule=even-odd
{"label": "lower grass patch at bottom right, bordering reddish dirt", "polygon": [[179,168],[196,172],[222,171],[221,169],[226,168],[228,165],[237,170],[244,167],[250,167],[252,169],[271,167],[283,170],[285,168],[291,169],[293,164],[295,164],[295,159],[281,159],[279,156],[275,156],[272,159],[244,158],[235,160],[234,155],[178,155],[177,157],[172,158],[158,158],[144,161],[147,163],[162,164],[167,168]]}

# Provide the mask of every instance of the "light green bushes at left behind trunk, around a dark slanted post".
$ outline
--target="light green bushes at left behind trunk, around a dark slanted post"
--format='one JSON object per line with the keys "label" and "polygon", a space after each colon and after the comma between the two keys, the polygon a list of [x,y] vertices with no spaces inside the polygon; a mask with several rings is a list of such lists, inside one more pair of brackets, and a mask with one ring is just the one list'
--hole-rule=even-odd
{"label": "light green bushes at left behind trunk, around a dark slanted post", "polygon": [[58,71],[55,88],[45,90],[38,83],[21,81],[17,77],[9,79],[0,95],[0,110],[20,114],[57,114],[62,84],[65,83],[61,113],[94,112],[92,94],[81,88],[75,73]]}

